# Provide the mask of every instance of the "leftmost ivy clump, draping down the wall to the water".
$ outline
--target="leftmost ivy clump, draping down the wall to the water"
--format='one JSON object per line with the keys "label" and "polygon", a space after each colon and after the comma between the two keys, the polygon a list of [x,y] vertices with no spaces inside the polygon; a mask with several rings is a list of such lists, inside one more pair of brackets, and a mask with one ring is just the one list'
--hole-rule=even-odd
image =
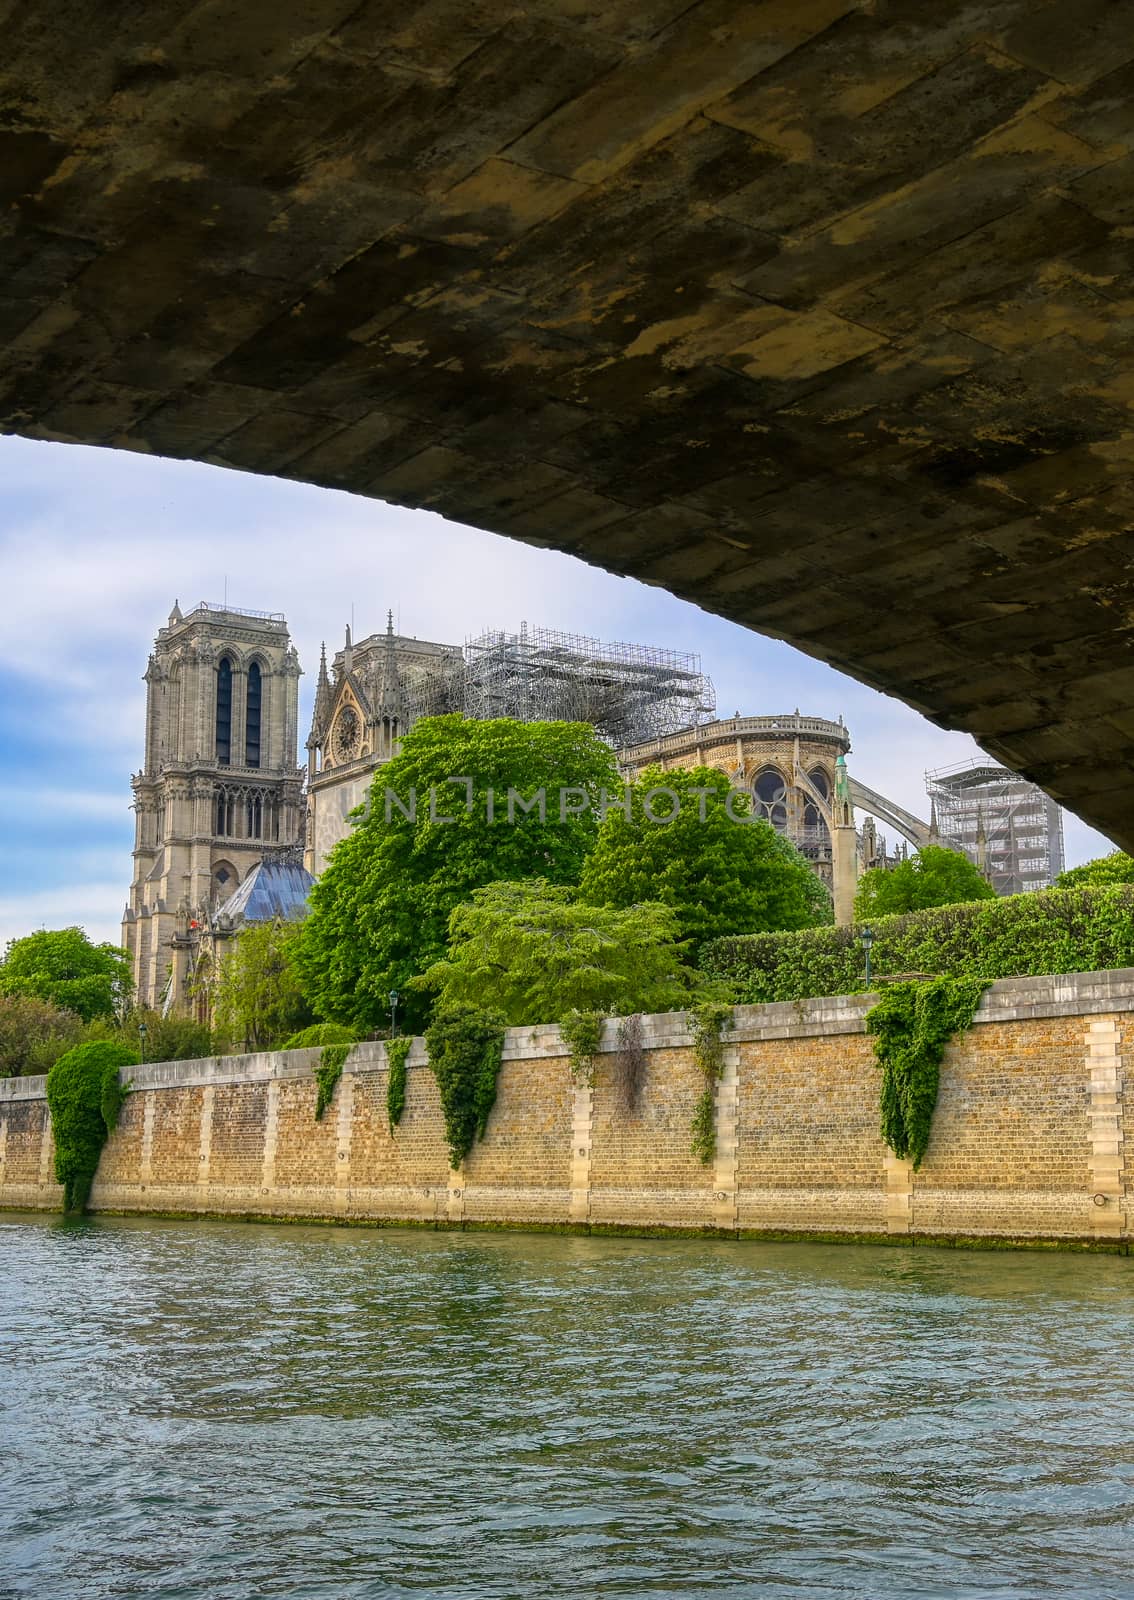
{"label": "leftmost ivy clump, draping down the wall to the water", "polygon": [[138,1066],[128,1045],[109,1038],[75,1045],[48,1072],[46,1094],[54,1138],[54,1176],[64,1211],[82,1211],[94,1182],[102,1146],[118,1125],[130,1085],[122,1067]]}

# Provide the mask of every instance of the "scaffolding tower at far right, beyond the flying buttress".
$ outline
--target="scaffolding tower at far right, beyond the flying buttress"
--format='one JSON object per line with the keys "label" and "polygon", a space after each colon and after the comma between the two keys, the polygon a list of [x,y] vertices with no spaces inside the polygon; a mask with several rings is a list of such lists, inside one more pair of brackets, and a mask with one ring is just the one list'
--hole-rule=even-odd
{"label": "scaffolding tower at far right, beyond the flying buttress", "polygon": [[1064,819],[1043,789],[996,762],[926,773],[937,834],[980,867],[998,894],[1051,888],[1064,870]]}

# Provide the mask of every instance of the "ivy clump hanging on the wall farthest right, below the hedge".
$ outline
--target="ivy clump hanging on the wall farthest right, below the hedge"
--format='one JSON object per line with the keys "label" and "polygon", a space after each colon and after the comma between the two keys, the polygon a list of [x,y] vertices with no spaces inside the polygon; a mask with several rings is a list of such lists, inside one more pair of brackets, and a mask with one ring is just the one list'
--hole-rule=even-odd
{"label": "ivy clump hanging on the wall farthest right, below the hedge", "polygon": [[987,987],[980,978],[889,984],[867,1011],[881,1067],[881,1136],[915,1171],[929,1146],[945,1046],[972,1026]]}

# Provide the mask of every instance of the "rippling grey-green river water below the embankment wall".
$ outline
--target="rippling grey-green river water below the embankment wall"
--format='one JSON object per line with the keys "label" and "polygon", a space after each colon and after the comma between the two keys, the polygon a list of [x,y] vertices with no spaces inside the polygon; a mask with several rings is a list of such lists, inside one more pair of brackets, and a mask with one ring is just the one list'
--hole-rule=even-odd
{"label": "rippling grey-green river water below the embankment wall", "polygon": [[0,1595],[1134,1597],[1124,1258],[0,1216]]}

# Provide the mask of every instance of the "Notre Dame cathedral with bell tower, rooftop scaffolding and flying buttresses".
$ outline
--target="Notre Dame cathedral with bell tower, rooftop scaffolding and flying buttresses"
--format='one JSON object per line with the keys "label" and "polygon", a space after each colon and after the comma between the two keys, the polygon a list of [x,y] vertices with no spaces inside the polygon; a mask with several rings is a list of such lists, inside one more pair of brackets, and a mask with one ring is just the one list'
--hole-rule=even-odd
{"label": "Notre Dame cathedral with bell tower, rooftop scaffolding and flying buttresses", "polygon": [[305,912],[313,874],[350,830],[374,771],[419,717],[590,722],[627,779],[648,766],[707,765],[787,834],[849,922],[864,867],[889,862],[872,818],[915,846],[937,830],[856,784],[840,722],[715,720],[696,656],[526,629],[457,645],[384,634],[345,645],[315,685],[307,768],[296,762],[299,658],[283,616],[174,603],[146,670],[146,758],[133,778],[134,874],[122,942],[138,1003],[210,1014],[224,941]]}

